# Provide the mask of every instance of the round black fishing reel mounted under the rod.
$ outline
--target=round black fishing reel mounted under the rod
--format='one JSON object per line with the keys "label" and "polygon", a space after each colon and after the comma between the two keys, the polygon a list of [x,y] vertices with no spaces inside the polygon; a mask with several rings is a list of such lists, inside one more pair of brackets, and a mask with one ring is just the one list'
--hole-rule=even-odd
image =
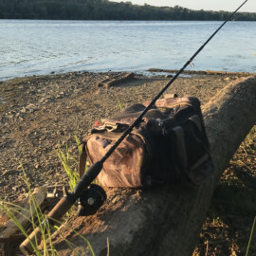
{"label": "round black fishing reel mounted under the rod", "polygon": [[101,186],[90,184],[78,202],[77,214],[79,216],[89,216],[96,213],[106,200],[106,192]]}

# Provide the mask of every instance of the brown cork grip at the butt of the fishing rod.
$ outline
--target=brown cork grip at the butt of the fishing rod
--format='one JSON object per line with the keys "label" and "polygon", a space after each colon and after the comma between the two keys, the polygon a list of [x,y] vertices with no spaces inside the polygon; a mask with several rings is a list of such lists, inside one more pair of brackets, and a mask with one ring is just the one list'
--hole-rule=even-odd
{"label": "brown cork grip at the butt of the fishing rod", "polygon": [[[54,225],[56,222],[58,222],[64,214],[72,207],[73,203],[68,200],[67,197],[63,197],[58,204],[47,214],[49,224]],[[42,236],[42,229],[44,229],[43,226],[47,225],[46,222],[41,224],[41,227],[37,227],[33,230],[32,233],[27,237],[27,239],[20,245],[21,251],[29,255],[33,252],[34,247],[36,245],[40,244],[41,236]]]}

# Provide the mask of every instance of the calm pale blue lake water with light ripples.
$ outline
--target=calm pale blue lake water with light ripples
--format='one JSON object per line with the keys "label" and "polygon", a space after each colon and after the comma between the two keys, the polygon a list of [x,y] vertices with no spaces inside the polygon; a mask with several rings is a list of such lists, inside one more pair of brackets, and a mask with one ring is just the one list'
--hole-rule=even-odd
{"label": "calm pale blue lake water with light ripples", "polygon": [[[0,20],[0,80],[50,72],[179,69],[220,24]],[[256,22],[229,22],[187,69],[256,72]]]}

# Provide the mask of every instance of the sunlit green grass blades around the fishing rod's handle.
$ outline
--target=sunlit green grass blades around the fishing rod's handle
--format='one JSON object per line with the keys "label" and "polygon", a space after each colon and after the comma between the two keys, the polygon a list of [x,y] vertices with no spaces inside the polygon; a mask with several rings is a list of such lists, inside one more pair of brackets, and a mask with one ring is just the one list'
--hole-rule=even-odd
{"label": "sunlit green grass blades around the fishing rod's handle", "polygon": [[[75,137],[75,139],[78,145],[78,151],[81,154],[81,151],[82,151],[81,142],[78,139],[78,137]],[[61,149],[58,150],[57,155],[59,156],[62,162],[62,165],[64,167],[64,171],[68,176],[68,184],[69,184],[70,190],[73,190],[76,183],[79,180],[79,174],[77,170],[74,170],[74,171],[72,170],[71,165],[74,163],[78,165],[78,162],[72,155],[69,154],[67,146],[65,148],[65,151],[62,151]],[[30,224],[30,226],[32,227],[32,229],[36,229],[37,227],[40,227],[40,235],[42,237],[41,239],[42,242],[40,243],[40,245],[37,241],[35,243],[32,243],[30,241],[31,246],[34,249],[35,255],[44,255],[44,256],[58,255],[58,251],[55,249],[53,242],[51,240],[52,230],[55,230],[64,239],[68,247],[74,248],[75,245],[67,241],[62,236],[62,234],[58,232],[58,229],[59,229],[58,226],[50,227],[46,214],[42,212],[42,210],[37,204],[37,201],[35,200],[33,193],[31,192],[30,185],[27,180],[27,175],[24,169],[23,169],[23,173],[24,173],[24,182],[26,184],[28,197],[29,197],[29,200],[28,200],[29,205],[27,209],[22,208],[17,204],[6,202],[0,198],[0,210],[2,210],[2,212],[4,212],[6,216],[9,217],[10,220],[12,220],[14,225],[21,231],[21,233],[26,238],[28,237],[29,233],[27,232],[27,229],[24,227],[24,225],[20,222],[21,218],[23,219],[25,218]],[[22,213],[22,212],[25,212],[25,213]],[[57,223],[60,225],[63,224],[60,221]],[[65,223],[64,225],[67,225],[67,224]],[[95,253],[89,241],[76,230],[72,229],[71,227],[68,227],[68,228],[82,238],[82,240],[89,247],[92,255],[95,256]]]}

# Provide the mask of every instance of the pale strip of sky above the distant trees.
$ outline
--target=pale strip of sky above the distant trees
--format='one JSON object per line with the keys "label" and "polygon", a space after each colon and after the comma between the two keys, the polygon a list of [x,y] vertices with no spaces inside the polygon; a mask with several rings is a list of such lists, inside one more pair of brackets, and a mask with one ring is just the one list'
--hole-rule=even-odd
{"label": "pale strip of sky above the distant trees", "polygon": [[[135,5],[145,3],[157,7],[180,6],[188,9],[228,10],[237,9],[245,0],[110,0],[112,2],[132,2]],[[248,0],[240,11],[256,12],[256,0]]]}

